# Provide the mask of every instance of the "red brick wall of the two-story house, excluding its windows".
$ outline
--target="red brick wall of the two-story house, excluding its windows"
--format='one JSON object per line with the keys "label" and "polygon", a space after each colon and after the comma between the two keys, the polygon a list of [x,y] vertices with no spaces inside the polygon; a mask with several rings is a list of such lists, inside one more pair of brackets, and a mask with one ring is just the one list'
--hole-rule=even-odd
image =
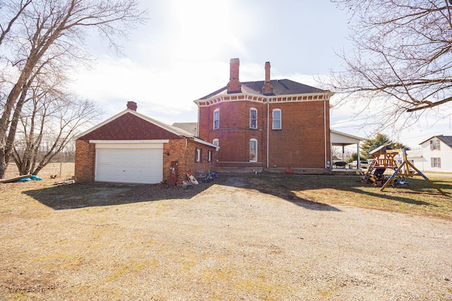
{"label": "red brick wall of the two-story house, excluding its windows", "polygon": [[[251,107],[258,110],[257,130],[249,128]],[[213,130],[215,109],[220,110],[218,130]],[[272,130],[273,109],[281,109],[281,130]],[[216,152],[219,166],[266,167],[267,116],[269,167],[325,168],[325,161],[329,161],[331,152],[328,101],[280,102],[270,104],[268,111],[267,104],[259,102],[219,102],[212,106],[201,106],[199,135],[208,142],[219,140],[220,151]],[[249,162],[251,138],[258,140],[257,164]]]}

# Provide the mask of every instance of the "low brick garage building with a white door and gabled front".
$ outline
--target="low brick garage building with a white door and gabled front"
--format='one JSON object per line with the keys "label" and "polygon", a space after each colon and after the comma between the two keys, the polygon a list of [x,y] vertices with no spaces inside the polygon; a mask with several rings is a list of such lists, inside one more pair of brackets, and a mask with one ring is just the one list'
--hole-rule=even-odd
{"label": "low brick garage building with a white door and gabled front", "polygon": [[215,145],[136,108],[128,102],[126,110],[78,135],[77,182],[174,183],[185,180],[186,171],[214,169]]}

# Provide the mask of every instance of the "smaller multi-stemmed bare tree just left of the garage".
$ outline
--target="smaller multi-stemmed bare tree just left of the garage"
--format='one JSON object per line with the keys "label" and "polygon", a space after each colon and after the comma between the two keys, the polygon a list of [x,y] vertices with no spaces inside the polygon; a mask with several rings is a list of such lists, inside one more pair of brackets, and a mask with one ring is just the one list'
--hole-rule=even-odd
{"label": "smaller multi-stemmed bare tree just left of the garage", "polygon": [[37,82],[29,90],[31,99],[22,110],[13,147],[20,175],[37,175],[64,151],[84,125],[102,115],[94,102],[76,99],[45,83]]}

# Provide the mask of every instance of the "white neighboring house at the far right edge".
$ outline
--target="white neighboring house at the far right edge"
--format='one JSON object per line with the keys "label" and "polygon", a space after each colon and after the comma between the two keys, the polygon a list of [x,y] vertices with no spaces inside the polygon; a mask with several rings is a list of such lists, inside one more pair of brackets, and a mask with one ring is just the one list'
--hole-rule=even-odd
{"label": "white neighboring house at the far right edge", "polygon": [[415,164],[417,168],[421,171],[452,172],[452,136],[433,136],[420,145],[422,166]]}

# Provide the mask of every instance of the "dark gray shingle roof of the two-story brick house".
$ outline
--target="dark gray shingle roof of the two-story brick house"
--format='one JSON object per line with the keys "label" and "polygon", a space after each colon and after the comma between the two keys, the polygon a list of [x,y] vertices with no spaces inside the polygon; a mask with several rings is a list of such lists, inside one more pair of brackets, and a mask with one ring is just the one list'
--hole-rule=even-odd
{"label": "dark gray shingle roof of the two-story brick house", "polygon": [[[293,80],[270,80],[270,84],[273,86],[273,94],[271,95],[274,96],[327,92],[326,90],[294,82]],[[265,85],[265,81],[263,80],[257,82],[242,82],[242,93],[263,95],[263,85]],[[201,99],[209,99],[217,94],[227,94],[227,87],[222,87],[205,97],[201,97]]]}

